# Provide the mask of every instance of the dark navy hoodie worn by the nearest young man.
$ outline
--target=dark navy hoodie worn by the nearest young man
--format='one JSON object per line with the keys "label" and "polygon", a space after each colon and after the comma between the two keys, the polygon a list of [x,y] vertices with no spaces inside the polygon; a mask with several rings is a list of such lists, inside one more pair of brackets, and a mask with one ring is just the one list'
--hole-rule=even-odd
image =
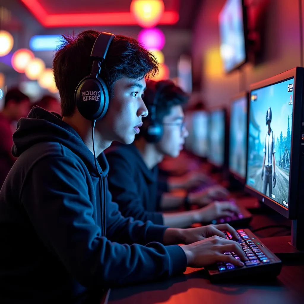
{"label": "dark navy hoodie worn by the nearest young man", "polygon": [[60,117],[34,107],[13,140],[18,159],[0,192],[3,302],[83,303],[102,288],[185,271],[179,246],[156,243],[166,227],[121,216],[104,155],[97,174],[92,152]]}

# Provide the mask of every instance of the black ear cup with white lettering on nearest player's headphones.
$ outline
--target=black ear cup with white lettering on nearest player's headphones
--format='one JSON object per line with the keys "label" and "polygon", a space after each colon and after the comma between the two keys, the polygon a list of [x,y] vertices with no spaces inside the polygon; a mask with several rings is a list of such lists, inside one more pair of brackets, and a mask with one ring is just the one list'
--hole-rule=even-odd
{"label": "black ear cup with white lettering on nearest player's headphones", "polygon": [[109,92],[101,78],[83,78],[75,90],[75,103],[79,113],[88,120],[105,116],[109,106]]}

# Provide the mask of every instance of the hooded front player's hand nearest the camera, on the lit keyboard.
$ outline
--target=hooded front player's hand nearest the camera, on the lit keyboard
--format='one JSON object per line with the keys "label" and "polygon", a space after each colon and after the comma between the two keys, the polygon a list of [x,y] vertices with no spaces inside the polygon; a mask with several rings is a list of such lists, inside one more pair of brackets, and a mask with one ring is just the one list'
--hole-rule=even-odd
{"label": "hooded front player's hand nearest the camera, on the lit keyboard", "polygon": [[[183,245],[181,248],[185,251],[187,266],[190,267],[200,268],[219,262],[242,267],[244,263],[241,260],[248,261],[247,256],[237,242],[219,236],[209,237],[190,245]],[[226,252],[234,252],[238,259],[230,254],[224,254]]]}

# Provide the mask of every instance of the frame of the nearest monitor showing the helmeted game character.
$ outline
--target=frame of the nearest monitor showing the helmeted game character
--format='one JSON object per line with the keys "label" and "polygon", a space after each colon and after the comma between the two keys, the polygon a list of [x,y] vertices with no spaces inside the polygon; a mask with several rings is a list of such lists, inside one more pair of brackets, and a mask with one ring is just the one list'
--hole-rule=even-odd
{"label": "frame of the nearest monitor showing the helmeted game character", "polygon": [[[296,219],[297,218],[297,204],[299,204],[298,198],[300,198],[300,193],[298,187],[298,181],[300,180],[300,139],[301,139],[301,125],[302,125],[302,102],[303,102],[303,80],[304,80],[304,68],[302,67],[295,67],[291,70],[268,78],[266,80],[257,82],[255,84],[250,85],[250,95],[249,100],[251,99],[251,92],[255,91],[259,88],[264,88],[269,85],[274,85],[279,82],[286,81],[288,79],[294,78],[294,95],[293,95],[293,107],[292,107],[292,133],[291,133],[291,150],[290,150],[290,173],[289,173],[289,194],[288,194],[288,209],[283,205],[279,204],[278,202],[274,201],[273,199],[269,198],[266,195],[257,192],[254,188],[247,185],[247,178],[245,189],[251,195],[254,195],[262,201],[267,206],[271,207],[278,213],[282,214],[288,219]],[[299,100],[299,102],[295,102]],[[249,108],[248,108],[248,115],[249,115]],[[247,138],[249,138],[249,119],[247,125]],[[299,139],[299,140],[295,140]],[[247,153],[248,153],[248,146],[249,140],[247,140]],[[295,155],[294,152],[298,151],[298,155]],[[248,169],[248,155],[247,155],[247,169]],[[292,203],[293,202],[293,203]]]}

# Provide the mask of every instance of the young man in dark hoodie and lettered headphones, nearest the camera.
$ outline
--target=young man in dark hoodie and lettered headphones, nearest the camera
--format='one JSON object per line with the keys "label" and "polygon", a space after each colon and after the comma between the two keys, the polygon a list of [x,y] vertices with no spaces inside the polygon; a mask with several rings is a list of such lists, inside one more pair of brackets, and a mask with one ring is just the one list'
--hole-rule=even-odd
{"label": "young man in dark hoodie and lettered headphones, nearest the camera", "polygon": [[[19,157],[0,192],[0,297],[6,302],[95,303],[109,286],[166,278],[186,265],[240,263],[225,251],[246,260],[237,242],[219,237],[223,229],[235,235],[230,226],[180,230],[121,216],[107,188],[105,157],[99,165],[94,154],[114,140],[133,142],[147,116],[145,76],[157,64],[136,40],[99,34],[65,36],[55,54],[62,118],[36,107],[14,133]],[[98,75],[104,84],[98,81],[97,92]],[[77,98],[80,82],[85,103]],[[80,111],[95,112],[100,100],[92,96],[100,97],[105,85],[109,107],[95,124]],[[187,245],[174,245],[181,243]]]}

